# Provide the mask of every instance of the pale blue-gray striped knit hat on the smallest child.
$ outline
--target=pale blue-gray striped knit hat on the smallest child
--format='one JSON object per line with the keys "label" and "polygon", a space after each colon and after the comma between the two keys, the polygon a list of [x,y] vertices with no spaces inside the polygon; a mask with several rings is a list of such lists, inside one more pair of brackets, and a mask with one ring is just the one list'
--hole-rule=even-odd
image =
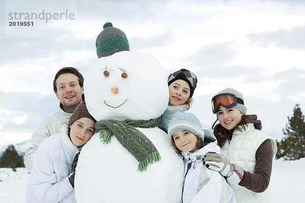
{"label": "pale blue-gray striped knit hat on the smallest child", "polygon": [[169,137],[172,137],[173,133],[177,130],[189,130],[204,140],[204,131],[201,123],[194,114],[182,112],[175,113],[168,126],[167,131]]}

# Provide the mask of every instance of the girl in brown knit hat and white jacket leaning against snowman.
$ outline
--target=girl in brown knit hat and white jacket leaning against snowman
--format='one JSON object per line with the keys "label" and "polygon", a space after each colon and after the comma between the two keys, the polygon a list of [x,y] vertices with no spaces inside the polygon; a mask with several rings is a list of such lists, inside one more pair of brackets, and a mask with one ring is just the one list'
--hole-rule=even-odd
{"label": "girl in brown knit hat and white jacket leaning against snowman", "polygon": [[81,147],[95,132],[96,120],[85,102],[74,110],[60,133],[41,142],[35,153],[25,202],[76,202],[74,175]]}

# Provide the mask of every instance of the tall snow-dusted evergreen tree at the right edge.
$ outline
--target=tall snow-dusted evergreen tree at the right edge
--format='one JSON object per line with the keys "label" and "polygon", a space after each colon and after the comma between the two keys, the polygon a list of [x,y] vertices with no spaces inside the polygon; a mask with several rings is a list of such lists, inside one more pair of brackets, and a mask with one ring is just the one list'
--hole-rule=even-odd
{"label": "tall snow-dusted evergreen tree at the right edge", "polygon": [[296,160],[305,157],[305,122],[299,104],[293,108],[293,115],[289,118],[285,129],[285,137],[278,142],[277,158]]}

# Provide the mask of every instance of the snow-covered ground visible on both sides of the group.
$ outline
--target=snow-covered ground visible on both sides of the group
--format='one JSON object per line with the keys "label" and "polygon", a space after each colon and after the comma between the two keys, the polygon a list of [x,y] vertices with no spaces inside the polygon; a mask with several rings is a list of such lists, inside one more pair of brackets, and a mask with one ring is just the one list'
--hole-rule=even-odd
{"label": "snow-covered ground visible on both sides of the group", "polygon": [[[273,162],[271,202],[304,202],[305,158],[296,161],[282,159]],[[25,168],[0,168],[0,200],[2,203],[24,202],[29,174]]]}

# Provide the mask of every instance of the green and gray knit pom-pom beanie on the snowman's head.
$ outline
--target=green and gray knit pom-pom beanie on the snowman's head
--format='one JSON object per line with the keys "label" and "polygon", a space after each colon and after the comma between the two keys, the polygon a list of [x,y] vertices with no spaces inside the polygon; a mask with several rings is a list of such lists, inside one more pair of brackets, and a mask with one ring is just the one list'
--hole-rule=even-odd
{"label": "green and gray knit pom-pom beanie on the snowman's head", "polygon": [[120,51],[130,51],[128,39],[122,30],[113,27],[111,22],[106,22],[103,28],[96,41],[99,58]]}

